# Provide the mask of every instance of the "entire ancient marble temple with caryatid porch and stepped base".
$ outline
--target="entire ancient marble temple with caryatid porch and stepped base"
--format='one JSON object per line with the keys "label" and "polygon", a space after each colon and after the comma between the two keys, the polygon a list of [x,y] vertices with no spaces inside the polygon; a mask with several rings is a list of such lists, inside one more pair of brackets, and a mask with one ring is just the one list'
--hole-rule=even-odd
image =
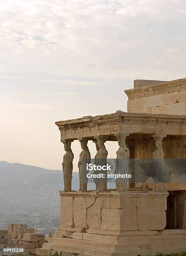
{"label": "entire ancient marble temple with caryatid porch and stepped base", "polygon": [[[186,251],[185,175],[179,179],[177,174],[171,182],[116,179],[115,189],[107,189],[107,178],[94,178],[96,189],[87,190],[86,166],[94,157],[95,164],[107,163],[106,141],[118,142],[115,174],[137,175],[136,159],[151,159],[161,163],[159,173],[164,176],[164,159],[186,157],[186,79],[135,80],[134,89],[125,93],[127,113],[56,122],[66,151],[61,223],[55,237],[36,250],[38,255],[57,251],[62,255],[137,256]],[[75,140],[82,148],[74,168],[79,168],[79,191],[72,191],[71,186],[75,153],[71,144]],[[88,141],[94,143],[96,156],[90,155]]]}

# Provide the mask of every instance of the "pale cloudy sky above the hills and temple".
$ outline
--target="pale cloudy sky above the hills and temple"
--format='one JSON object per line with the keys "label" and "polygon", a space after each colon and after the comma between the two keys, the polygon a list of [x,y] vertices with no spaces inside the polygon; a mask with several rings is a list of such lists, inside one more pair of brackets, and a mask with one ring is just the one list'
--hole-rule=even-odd
{"label": "pale cloudy sky above the hills and temple", "polygon": [[61,169],[55,121],[127,111],[134,79],[184,77],[186,0],[0,0],[0,161]]}

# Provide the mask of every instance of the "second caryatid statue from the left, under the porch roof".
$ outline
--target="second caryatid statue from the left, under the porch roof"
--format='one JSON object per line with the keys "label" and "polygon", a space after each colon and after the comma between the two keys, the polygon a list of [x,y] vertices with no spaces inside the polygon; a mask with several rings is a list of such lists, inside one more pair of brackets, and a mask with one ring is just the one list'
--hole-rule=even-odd
{"label": "second caryatid statue from the left, under the porch roof", "polygon": [[80,191],[87,191],[87,174],[89,171],[87,171],[87,164],[91,163],[90,160],[90,152],[89,148],[87,147],[87,140],[79,140],[81,143],[82,151],[79,155],[79,162],[78,162],[78,168],[79,168],[79,190]]}

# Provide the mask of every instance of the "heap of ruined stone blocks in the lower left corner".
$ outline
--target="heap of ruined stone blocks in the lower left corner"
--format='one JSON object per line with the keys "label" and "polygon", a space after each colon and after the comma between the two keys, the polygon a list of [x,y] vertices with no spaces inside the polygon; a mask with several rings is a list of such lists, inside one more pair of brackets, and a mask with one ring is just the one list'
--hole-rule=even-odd
{"label": "heap of ruined stone blocks in the lower left corner", "polygon": [[25,255],[33,255],[43,243],[45,235],[35,234],[35,229],[27,228],[27,224],[10,223],[7,230],[0,230],[0,248],[24,248]]}

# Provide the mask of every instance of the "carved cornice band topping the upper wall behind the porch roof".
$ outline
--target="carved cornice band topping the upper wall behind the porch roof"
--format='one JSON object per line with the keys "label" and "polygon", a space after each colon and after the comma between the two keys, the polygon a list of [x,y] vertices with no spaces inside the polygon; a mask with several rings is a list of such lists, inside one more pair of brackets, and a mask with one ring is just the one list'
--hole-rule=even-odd
{"label": "carved cornice band topping the upper wall behind the porch roof", "polygon": [[153,95],[180,92],[186,90],[186,78],[164,82],[157,85],[144,86],[137,89],[124,90],[128,100],[150,97]]}

